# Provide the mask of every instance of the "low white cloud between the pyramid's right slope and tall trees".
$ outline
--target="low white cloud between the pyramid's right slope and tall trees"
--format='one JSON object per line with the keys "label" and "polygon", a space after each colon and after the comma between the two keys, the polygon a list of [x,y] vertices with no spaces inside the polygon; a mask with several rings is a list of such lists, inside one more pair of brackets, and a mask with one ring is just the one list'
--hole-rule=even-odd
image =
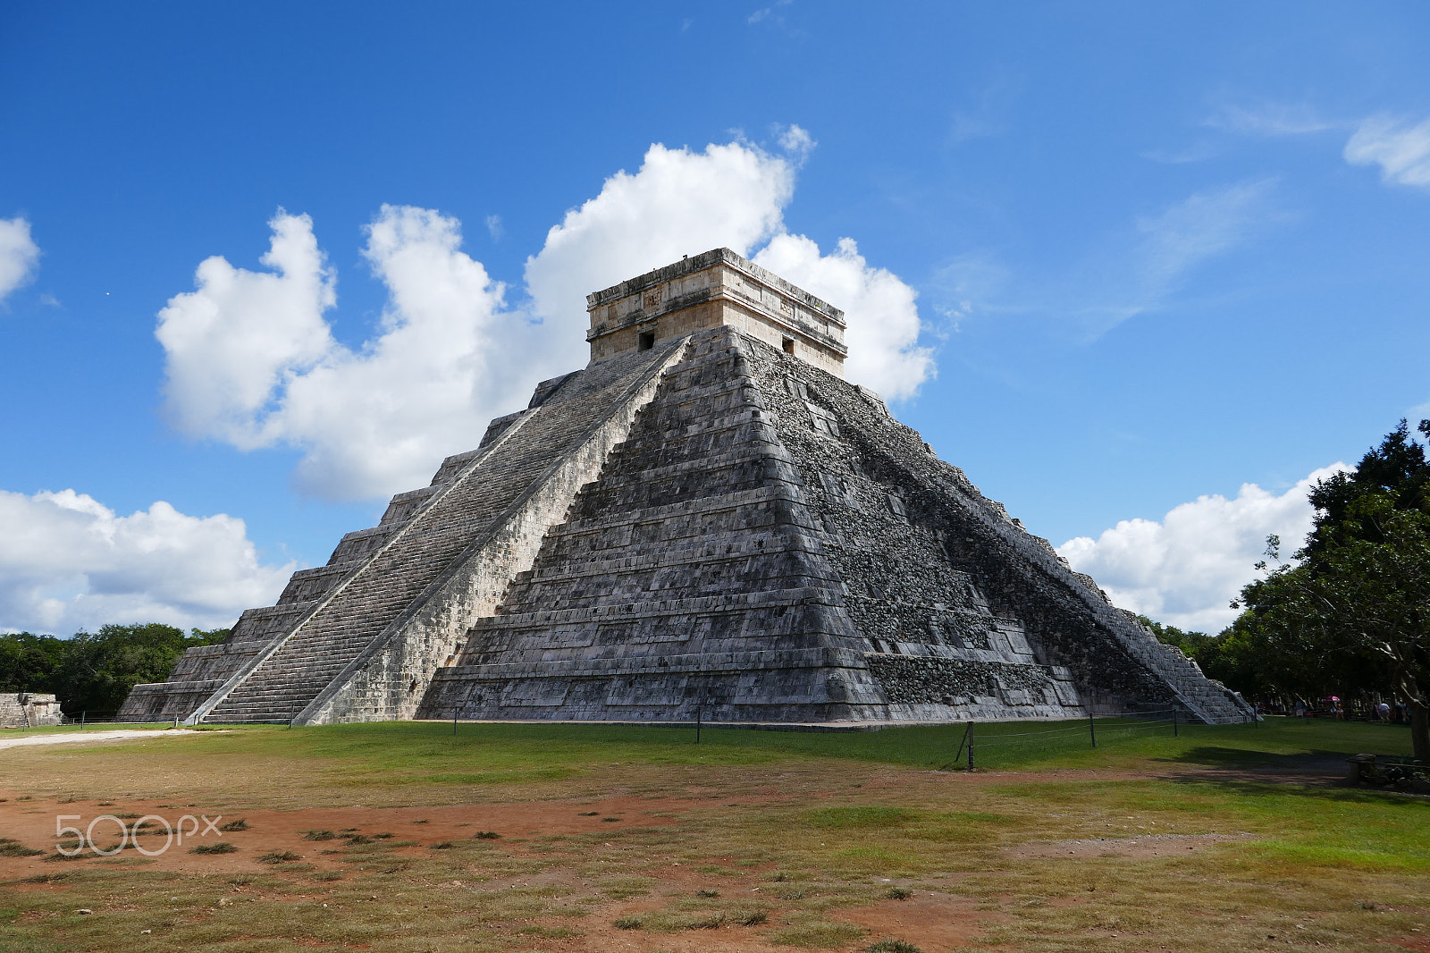
{"label": "low white cloud between the pyramid's right slope and tall trees", "polygon": [[1097,539],[1068,539],[1058,554],[1121,608],[1217,632],[1236,618],[1230,601],[1256,575],[1267,535],[1281,537],[1283,557],[1300,548],[1314,515],[1307,492],[1343,469],[1333,464],[1313,471],[1280,495],[1243,484],[1234,499],[1198,497],[1161,521],[1124,519]]}

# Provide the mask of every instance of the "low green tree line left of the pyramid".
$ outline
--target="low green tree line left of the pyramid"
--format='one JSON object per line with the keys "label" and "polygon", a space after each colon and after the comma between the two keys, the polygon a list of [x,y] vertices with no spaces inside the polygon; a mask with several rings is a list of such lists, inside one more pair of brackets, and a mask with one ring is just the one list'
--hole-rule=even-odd
{"label": "low green tree line left of the pyramid", "polygon": [[167,678],[186,648],[227,637],[227,628],[193,628],[186,635],[160,622],[103,625],[72,638],[6,634],[0,635],[0,693],[53,694],[72,717],[110,714],[134,685]]}

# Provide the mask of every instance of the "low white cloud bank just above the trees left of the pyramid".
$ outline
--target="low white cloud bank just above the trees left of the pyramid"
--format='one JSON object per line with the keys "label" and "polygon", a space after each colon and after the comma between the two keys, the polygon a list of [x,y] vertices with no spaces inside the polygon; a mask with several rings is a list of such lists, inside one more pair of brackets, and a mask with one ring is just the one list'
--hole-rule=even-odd
{"label": "low white cloud bank just above the trees left of the pyramid", "polygon": [[232,625],[277,598],[296,565],[263,565],[242,519],[167,502],[127,517],[73,489],[0,491],[0,628],[70,634],[106,622]]}

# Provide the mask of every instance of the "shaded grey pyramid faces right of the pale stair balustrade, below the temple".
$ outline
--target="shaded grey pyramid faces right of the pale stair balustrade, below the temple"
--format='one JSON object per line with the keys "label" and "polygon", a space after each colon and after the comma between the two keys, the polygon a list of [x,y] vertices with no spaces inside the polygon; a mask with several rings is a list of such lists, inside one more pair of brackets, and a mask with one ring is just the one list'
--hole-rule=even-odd
{"label": "shaded grey pyramid faces right of the pale stair balustrade, below the temple", "polygon": [[419,717],[1241,717],[872,394],[685,346]]}

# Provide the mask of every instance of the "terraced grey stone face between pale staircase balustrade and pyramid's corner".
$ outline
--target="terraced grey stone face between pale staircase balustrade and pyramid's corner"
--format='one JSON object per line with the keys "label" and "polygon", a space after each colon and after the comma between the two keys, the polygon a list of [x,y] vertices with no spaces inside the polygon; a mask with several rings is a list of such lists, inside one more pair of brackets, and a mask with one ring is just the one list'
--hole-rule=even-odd
{"label": "terraced grey stone face between pale staircase balustrade and pyramid's corner", "polygon": [[668,375],[419,717],[829,717],[815,683],[864,642],[731,341]]}

